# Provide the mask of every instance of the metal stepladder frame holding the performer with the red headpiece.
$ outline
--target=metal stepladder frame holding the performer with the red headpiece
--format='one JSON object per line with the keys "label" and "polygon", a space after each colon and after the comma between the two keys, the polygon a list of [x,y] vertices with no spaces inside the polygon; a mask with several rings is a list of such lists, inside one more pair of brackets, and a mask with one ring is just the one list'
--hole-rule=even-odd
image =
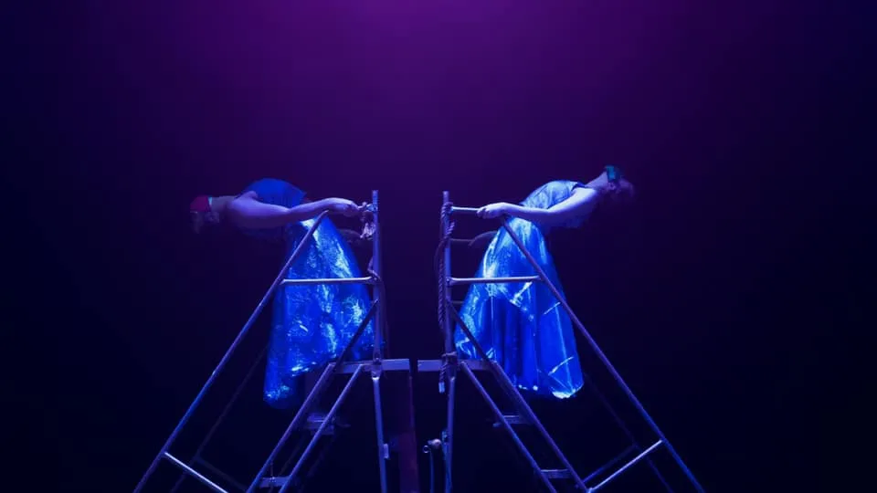
{"label": "metal stepladder frame holding the performer with the red headpiece", "polygon": [[[259,305],[257,305],[256,309],[250,314],[247,322],[244,324],[244,327],[238,332],[238,336],[232,341],[225,355],[217,364],[216,369],[210,374],[209,378],[207,378],[206,383],[201,388],[201,391],[195,397],[195,401],[189,406],[186,410],[183,417],[180,419],[180,422],[176,425],[174,430],[171,432],[171,435],[165,440],[164,445],[159,450],[158,454],[153,458],[153,462],[147,468],[145,474],[141,478],[140,482],[137,484],[137,487],[134,488],[134,493],[139,493],[145,488],[146,483],[149,478],[153,476],[156,468],[159,464],[166,460],[173,464],[175,467],[179,468],[184,476],[180,477],[172,491],[175,491],[179,488],[181,482],[185,477],[193,477],[198,480],[200,483],[205,485],[207,488],[212,489],[218,493],[226,493],[227,489],[222,488],[219,485],[218,480],[211,479],[208,477],[205,472],[198,471],[195,467],[200,467],[208,471],[213,477],[217,479],[221,479],[223,483],[227,483],[233,487],[235,487],[239,491],[246,490],[247,493],[252,493],[257,488],[276,488],[280,487],[280,492],[285,492],[289,488],[296,486],[298,479],[302,475],[302,468],[305,461],[309,456],[312,456],[312,453],[317,445],[318,440],[322,435],[326,435],[331,433],[333,427],[333,420],[335,415],[337,414],[339,408],[343,404],[344,400],[347,398],[351,389],[354,386],[354,383],[359,379],[361,375],[365,372],[370,373],[372,380],[372,388],[373,388],[373,398],[375,404],[375,430],[377,435],[377,459],[378,459],[378,473],[380,476],[380,484],[382,493],[386,493],[386,458],[387,458],[387,445],[384,441],[384,423],[383,423],[383,413],[381,406],[381,394],[380,394],[380,381],[381,375],[383,372],[409,372],[409,363],[407,360],[384,360],[383,359],[383,342],[385,335],[385,305],[386,305],[386,292],[384,288],[383,280],[380,277],[381,273],[381,245],[380,245],[380,227],[378,223],[378,196],[377,191],[372,192],[372,204],[370,205],[370,212],[373,214],[373,224],[375,226],[374,234],[371,238],[372,240],[372,263],[369,268],[369,276],[363,278],[313,278],[313,279],[286,279],[287,272],[292,265],[292,262],[295,261],[296,258],[301,257],[302,252],[304,252],[305,247],[308,245],[308,242],[312,240],[314,232],[321,225],[323,219],[326,217],[327,213],[323,212],[321,215],[317,216],[314,220],[313,225],[308,229],[307,233],[301,238],[299,245],[295,247],[292,251],[291,256],[287,259],[284,266],[280,269],[280,273],[274,279],[274,282],[271,283],[270,288],[259,301]],[[235,478],[228,476],[224,472],[217,469],[217,467],[212,466],[202,456],[202,453],[210,441],[211,437],[216,433],[218,425],[225,419],[228,414],[228,411],[232,404],[238,399],[239,394],[242,389],[246,386],[246,384],[251,380],[252,376],[256,372],[256,368],[259,366],[259,362],[264,358],[265,353],[267,351],[263,350],[259,355],[259,358],[253,365],[250,367],[247,375],[244,377],[243,382],[238,385],[238,389],[235,391],[234,395],[231,398],[231,401],[227,403],[225,409],[222,414],[219,415],[217,421],[207,432],[204,439],[201,441],[200,445],[197,447],[194,456],[189,461],[183,461],[176,456],[173,456],[170,453],[171,446],[174,445],[175,440],[182,432],[185,425],[189,422],[192,415],[195,413],[195,409],[199,404],[203,401],[206,396],[207,391],[213,386],[213,384],[217,380],[217,376],[222,370],[226,367],[227,362],[230,360],[232,354],[235,350],[238,349],[241,341],[243,341],[244,337],[248,334],[249,330],[255,324],[256,320],[259,318],[262,310],[265,309],[266,305],[269,302],[269,299],[280,286],[289,286],[289,285],[327,285],[327,284],[368,284],[373,286],[373,300],[368,312],[365,315],[365,319],[360,323],[357,328],[354,336],[344,347],[341,354],[338,355],[337,358],[334,359],[333,362],[329,362],[323,368],[322,373],[320,375],[319,380],[313,386],[310,393],[308,393],[307,397],[304,400],[304,403],[301,404],[298,412],[295,414],[295,417],[292,418],[290,425],[286,428],[283,435],[280,437],[280,440],[277,442],[274,449],[269,454],[265,463],[262,465],[259,473],[249,482],[248,487],[244,487],[242,484],[238,483]],[[365,328],[368,326],[370,321],[374,320],[375,322],[375,348],[373,352],[373,358],[371,361],[366,362],[345,362],[345,358],[348,356],[350,351],[354,348],[356,341],[362,336]],[[309,419],[312,417],[312,408],[318,402],[322,393],[324,393],[330,381],[333,377],[340,374],[349,374],[350,377],[347,380],[347,383],[344,385],[343,391],[335,398],[334,403],[329,410],[328,414],[322,416],[317,420]],[[280,454],[280,450],[290,439],[293,432],[301,429],[306,429],[310,427],[313,431],[312,437],[310,441],[304,448],[304,451],[299,456],[298,460],[295,462],[295,465],[292,467],[291,472],[286,476],[280,477],[268,477],[267,473],[269,468],[274,463],[277,456]],[[315,428],[315,430],[313,429]],[[287,462],[287,467],[292,464],[292,458]],[[283,467],[286,469],[287,467]],[[281,470],[280,474],[284,474],[284,471]]]}

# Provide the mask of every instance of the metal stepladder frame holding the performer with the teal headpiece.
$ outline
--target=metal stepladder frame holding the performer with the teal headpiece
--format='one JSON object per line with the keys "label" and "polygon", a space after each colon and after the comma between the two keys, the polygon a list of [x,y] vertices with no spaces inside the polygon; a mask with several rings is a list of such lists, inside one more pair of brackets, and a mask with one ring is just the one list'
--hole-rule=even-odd
{"label": "metal stepladder frame holding the performer with the teal headpiece", "polygon": [[[539,266],[536,259],[533,255],[524,247],[521,238],[515,234],[512,230],[512,227],[509,225],[509,219],[507,217],[502,218],[502,226],[505,228],[506,232],[508,232],[509,236],[512,238],[514,244],[521,250],[523,256],[527,258],[530,265],[534,268],[536,272],[536,276],[527,276],[527,277],[512,277],[512,278],[453,278],[451,277],[451,269],[450,269],[450,245],[452,243],[452,238],[450,237],[453,231],[453,221],[451,220],[451,215],[475,215],[478,211],[475,207],[457,207],[451,204],[449,193],[444,192],[443,194],[443,203],[441,208],[441,242],[439,244],[439,252],[441,257],[438,260],[438,277],[439,277],[439,323],[442,327],[445,336],[445,354],[441,361],[426,361],[426,362],[418,362],[418,369],[420,371],[438,371],[440,372],[440,382],[439,382],[439,392],[444,393],[447,388],[448,393],[448,424],[447,428],[443,433],[443,450],[445,455],[445,493],[450,493],[453,487],[453,478],[452,478],[452,452],[453,452],[453,437],[454,437],[454,404],[455,404],[455,393],[456,393],[456,379],[458,370],[462,371],[469,377],[469,380],[475,385],[476,389],[481,394],[481,397],[484,401],[491,407],[491,410],[494,414],[494,417],[497,420],[498,425],[500,425],[508,435],[512,438],[512,441],[520,450],[524,458],[530,463],[530,466],[533,467],[535,476],[540,479],[540,482],[544,486],[544,488],[548,491],[556,491],[555,486],[552,483],[552,480],[555,479],[567,479],[572,480],[576,488],[582,489],[588,492],[596,492],[606,487],[611,481],[616,479],[621,473],[627,470],[629,467],[632,467],[634,464],[637,464],[641,460],[646,460],[651,467],[652,471],[659,478],[660,482],[664,485],[665,488],[672,491],[670,486],[664,477],[660,474],[660,471],[657,467],[652,463],[649,458],[649,455],[657,450],[660,446],[663,446],[667,451],[670,452],[671,456],[675,460],[676,464],[680,467],[685,476],[689,479],[692,486],[699,492],[703,492],[703,488],[700,483],[692,474],[692,471],[685,465],[682,461],[682,457],[676,452],[676,450],[671,446],[670,442],[667,440],[666,436],[660,431],[658,425],[655,424],[654,420],[651,418],[650,414],[646,412],[645,408],[642,404],[639,403],[639,399],[633,394],[630,390],[627,383],[621,378],[618,371],[615,367],[608,361],[608,358],[600,350],[599,346],[597,346],[597,342],[594,341],[594,338],[591,337],[590,333],[585,329],[584,324],[582,324],[581,320],[578,319],[576,313],[566,302],[565,298],[561,295],[558,288],[551,282],[551,280],[546,276],[542,267]],[[508,375],[502,370],[502,366],[498,362],[491,360],[487,353],[481,348],[481,345],[472,336],[470,329],[466,326],[466,324],[461,320],[460,314],[457,312],[455,306],[459,305],[459,303],[453,301],[450,296],[450,287],[456,285],[463,284],[475,284],[475,283],[510,283],[510,282],[542,282],[544,285],[552,292],[555,296],[555,299],[560,303],[563,307],[570,320],[572,320],[576,329],[582,334],[582,336],[586,339],[591,349],[597,353],[597,357],[600,362],[606,366],[608,371],[611,373],[616,383],[622,388],[624,393],[627,394],[629,401],[634,404],[634,406],[639,411],[639,414],[644,418],[646,423],[650,426],[650,429],[658,436],[658,440],[650,445],[649,447],[643,449],[639,446],[639,444],[634,439],[633,435],[630,433],[628,427],[623,423],[623,421],[618,417],[618,414],[612,409],[611,405],[608,403],[606,397],[597,390],[596,385],[591,381],[591,379],[587,379],[588,386],[592,391],[597,395],[598,399],[602,402],[602,404],[608,409],[608,412],[612,415],[616,423],[622,429],[622,431],[628,436],[629,440],[632,442],[632,445],[625,449],[623,452],[618,454],[615,458],[610,460],[607,464],[602,467],[599,467],[596,471],[589,474],[588,476],[582,478],[576,474],[576,470],[572,467],[570,462],[566,459],[563,452],[560,448],[555,444],[554,439],[552,439],[551,435],[544,429],[544,426],[539,421],[539,419],[534,414],[533,410],[524,400],[522,394],[518,392],[518,389],[515,388],[512,381],[509,379]],[[468,340],[472,343],[475,352],[478,354],[479,360],[463,360],[458,361],[456,354],[456,347],[454,341],[454,330],[455,327],[460,327]],[[490,372],[493,378],[500,383],[502,388],[502,392],[506,395],[509,400],[514,404],[517,413],[516,415],[506,415],[500,411],[499,406],[494,402],[491,398],[490,394],[487,393],[484,386],[479,381],[476,373],[474,371],[487,371]],[[533,455],[530,453],[528,448],[523,445],[520,437],[514,431],[512,425],[518,424],[528,424],[533,425],[534,428],[539,432],[539,435],[544,440],[544,443],[549,446],[553,455],[559,459],[561,464],[565,468],[563,469],[544,469],[540,467]],[[629,457],[631,454],[637,454],[633,458],[628,459],[624,462],[620,467],[618,467],[618,463],[624,460],[626,457]],[[605,473],[608,471],[612,471],[608,477],[603,478],[594,486],[587,486],[588,484],[593,484],[592,481],[596,481],[599,477],[603,477]]]}

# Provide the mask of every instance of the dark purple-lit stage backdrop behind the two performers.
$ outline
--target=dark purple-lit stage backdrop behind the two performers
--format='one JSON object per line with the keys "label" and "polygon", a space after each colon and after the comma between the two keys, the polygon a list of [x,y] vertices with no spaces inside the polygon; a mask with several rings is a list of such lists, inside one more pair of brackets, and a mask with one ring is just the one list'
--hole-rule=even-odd
{"label": "dark purple-lit stage backdrop behind the two performers", "polygon": [[[862,179],[867,134],[850,118],[869,16],[809,1],[20,4],[4,19],[3,166],[19,247],[5,407],[38,423],[10,421],[21,470],[63,491],[133,488],[255,308],[279,252],[192,235],[195,194],[265,176],[313,197],[379,189],[393,345],[429,358],[442,190],[518,201],[613,163],[636,205],[552,238],[572,306],[709,491],[819,482],[830,452],[810,394],[843,342],[819,330],[861,317],[851,252],[822,259],[849,229],[838,194]],[[459,258],[469,275],[475,259]],[[845,304],[822,308],[838,292]],[[434,380],[417,388],[423,442],[443,400]],[[248,445],[217,460],[259,461],[254,437],[288,418],[258,388],[249,403],[232,432]],[[593,408],[583,395],[539,410],[571,456],[611,456]],[[470,398],[458,421],[483,413]],[[366,488],[372,439],[352,433],[323,479]],[[458,437],[463,490],[523,488],[488,438]]]}

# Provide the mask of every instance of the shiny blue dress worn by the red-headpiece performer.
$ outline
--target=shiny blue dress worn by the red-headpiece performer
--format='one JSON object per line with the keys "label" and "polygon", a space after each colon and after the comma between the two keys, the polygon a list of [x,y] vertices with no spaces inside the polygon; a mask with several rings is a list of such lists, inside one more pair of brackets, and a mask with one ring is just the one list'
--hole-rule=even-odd
{"label": "shiny blue dress worn by the red-headpiece performer", "polygon": [[[291,207],[301,204],[304,193],[291,184],[266,179],[251,184],[259,201]],[[262,239],[280,239],[286,244],[286,262],[303,236],[316,221],[309,219],[282,228],[247,230]],[[359,278],[362,272],[350,246],[332,222],[323,219],[307,247],[296,258],[286,278]],[[283,286],[274,296],[265,372],[264,398],[273,407],[286,409],[301,404],[302,375],[337,358],[350,342],[371,305],[362,284]],[[354,345],[350,357],[371,357],[374,324],[370,321]]]}

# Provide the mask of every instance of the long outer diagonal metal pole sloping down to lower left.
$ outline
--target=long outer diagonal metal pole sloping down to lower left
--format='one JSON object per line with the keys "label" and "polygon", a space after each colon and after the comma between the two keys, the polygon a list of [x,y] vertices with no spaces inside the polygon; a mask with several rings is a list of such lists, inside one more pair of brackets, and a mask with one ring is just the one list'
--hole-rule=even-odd
{"label": "long outer diagonal metal pole sloping down to lower left", "polygon": [[192,417],[192,414],[195,414],[195,408],[197,408],[198,404],[201,404],[201,400],[204,399],[207,390],[209,390],[213,383],[216,381],[219,372],[221,372],[222,369],[225,368],[228,360],[231,358],[232,353],[234,353],[234,351],[238,349],[238,344],[240,344],[240,341],[243,341],[244,336],[247,335],[250,328],[252,328],[253,324],[256,323],[256,320],[259,318],[259,314],[261,314],[262,309],[264,309],[265,305],[268,304],[268,300],[270,299],[271,294],[273,294],[274,290],[277,289],[278,286],[280,286],[280,282],[283,280],[283,278],[286,277],[286,273],[290,269],[292,262],[301,255],[301,252],[304,251],[304,247],[308,244],[309,241],[311,241],[314,232],[316,232],[317,227],[320,226],[320,223],[322,223],[322,219],[327,214],[328,213],[323,212],[321,215],[317,216],[317,219],[314,221],[313,226],[308,229],[308,232],[304,235],[304,237],[301,238],[299,245],[295,247],[295,249],[292,251],[292,255],[286,261],[286,264],[283,266],[283,268],[280,269],[280,273],[277,275],[277,278],[274,278],[274,282],[271,283],[271,287],[268,289],[268,292],[266,292],[265,296],[262,297],[262,300],[259,301],[259,305],[256,306],[256,309],[249,316],[249,319],[247,320],[247,323],[244,324],[243,329],[238,332],[238,337],[236,337],[235,341],[231,343],[228,351],[226,351],[226,354],[217,364],[216,369],[214,369],[214,371],[210,373],[210,377],[207,378],[207,382],[201,388],[201,392],[199,392],[198,395],[195,397],[195,401],[193,401],[192,404],[189,405],[188,410],[186,410],[185,414],[183,414],[183,418],[180,419],[180,422],[176,425],[174,431],[171,432],[171,435],[167,437],[167,440],[165,440],[164,445],[162,446],[162,449],[159,451],[158,455],[153,458],[152,464],[149,465],[149,468],[146,469],[146,473],[143,475],[143,477],[141,477],[140,482],[137,484],[137,487],[134,488],[134,493],[139,493],[141,490],[143,490],[143,487],[146,485],[146,481],[149,479],[149,477],[153,475],[153,472],[155,472],[155,468],[158,467],[159,461],[162,460],[162,458],[167,453],[167,449],[170,448],[171,444],[174,443],[176,436],[179,435],[181,431],[183,431],[183,426],[185,426],[185,424],[189,421],[189,418]]}

